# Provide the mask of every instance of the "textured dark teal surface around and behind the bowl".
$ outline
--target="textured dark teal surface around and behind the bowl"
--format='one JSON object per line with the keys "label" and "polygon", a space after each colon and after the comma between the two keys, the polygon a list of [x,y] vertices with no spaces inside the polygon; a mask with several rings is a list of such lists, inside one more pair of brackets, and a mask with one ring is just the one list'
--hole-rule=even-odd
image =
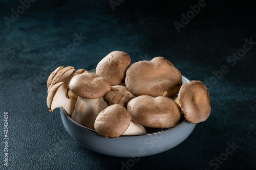
{"label": "textured dark teal surface around and behind the bowl", "polygon": [[[120,1],[119,1],[120,2]],[[7,27],[4,17],[18,1],[0,1],[0,168],[6,169],[217,169],[229,143],[238,145],[218,169],[253,169],[255,147],[256,44],[241,60],[228,56],[255,36],[255,3],[206,1],[178,33],[189,5],[198,1],[36,1]],[[69,55],[58,56],[75,34],[87,37]],[[57,66],[94,69],[114,50],[132,62],[167,58],[190,80],[207,84],[212,111],[176,148],[142,157],[100,155],[82,148],[64,129],[59,111],[49,113],[46,81]],[[51,63],[54,61],[54,63]],[[231,66],[233,64],[233,66]],[[218,81],[212,71],[226,65]],[[211,87],[212,86],[212,87]],[[8,167],[4,166],[4,112],[8,112]],[[231,150],[228,150],[231,152]]]}

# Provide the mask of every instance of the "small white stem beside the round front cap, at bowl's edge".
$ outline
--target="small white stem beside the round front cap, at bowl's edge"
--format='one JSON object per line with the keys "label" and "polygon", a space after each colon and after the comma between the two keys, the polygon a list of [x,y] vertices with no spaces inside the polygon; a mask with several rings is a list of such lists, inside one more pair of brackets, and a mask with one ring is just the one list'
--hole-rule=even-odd
{"label": "small white stem beside the round front cap, at bowl's edge", "polygon": [[144,135],[146,134],[145,128],[135,123],[133,120],[131,120],[131,124],[129,125],[128,129],[122,134],[123,136],[130,136],[130,135]]}

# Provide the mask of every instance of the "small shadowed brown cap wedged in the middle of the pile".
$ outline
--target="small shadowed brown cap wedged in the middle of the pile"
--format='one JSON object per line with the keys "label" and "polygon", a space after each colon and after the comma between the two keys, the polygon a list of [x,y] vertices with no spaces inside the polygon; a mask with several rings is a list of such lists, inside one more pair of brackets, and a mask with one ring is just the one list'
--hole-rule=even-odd
{"label": "small shadowed brown cap wedged in the middle of the pile", "polygon": [[104,95],[105,100],[112,104],[123,105],[125,108],[127,103],[135,97],[125,86],[121,85],[111,86],[111,90]]}

